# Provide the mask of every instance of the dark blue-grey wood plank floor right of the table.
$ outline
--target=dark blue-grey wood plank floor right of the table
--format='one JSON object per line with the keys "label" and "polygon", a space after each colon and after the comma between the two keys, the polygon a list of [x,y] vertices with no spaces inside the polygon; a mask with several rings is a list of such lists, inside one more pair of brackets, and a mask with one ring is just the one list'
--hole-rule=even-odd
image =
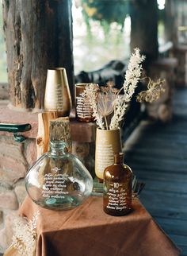
{"label": "dark blue-grey wood plank floor right of the table", "polygon": [[187,88],[174,93],[172,122],[140,122],[124,151],[146,183],[141,202],[187,256]]}

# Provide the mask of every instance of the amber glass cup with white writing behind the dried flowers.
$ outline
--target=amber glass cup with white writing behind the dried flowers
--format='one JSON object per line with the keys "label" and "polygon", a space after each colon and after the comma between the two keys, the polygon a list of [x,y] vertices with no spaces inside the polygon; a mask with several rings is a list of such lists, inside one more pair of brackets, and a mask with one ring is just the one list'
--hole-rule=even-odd
{"label": "amber glass cup with white writing behind the dried flowers", "polygon": [[82,92],[85,90],[86,85],[89,83],[76,83],[74,96],[75,96],[75,114],[76,119],[80,122],[93,122],[92,108],[88,99],[82,98]]}

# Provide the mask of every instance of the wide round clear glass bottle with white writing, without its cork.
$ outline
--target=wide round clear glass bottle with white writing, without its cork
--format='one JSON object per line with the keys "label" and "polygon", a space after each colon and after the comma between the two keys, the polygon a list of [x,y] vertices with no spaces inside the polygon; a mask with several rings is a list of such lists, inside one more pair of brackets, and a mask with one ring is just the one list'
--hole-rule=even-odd
{"label": "wide round clear glass bottle with white writing, without its cork", "polygon": [[93,179],[77,157],[67,153],[66,143],[51,141],[25,178],[31,199],[43,208],[68,210],[82,204],[93,188]]}

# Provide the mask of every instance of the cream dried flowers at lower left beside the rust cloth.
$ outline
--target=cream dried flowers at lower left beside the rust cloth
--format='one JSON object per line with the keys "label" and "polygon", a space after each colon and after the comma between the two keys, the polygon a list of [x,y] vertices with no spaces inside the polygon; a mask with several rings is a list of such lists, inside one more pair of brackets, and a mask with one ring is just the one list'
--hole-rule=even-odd
{"label": "cream dried flowers at lower left beside the rust cloth", "polygon": [[[33,256],[36,249],[36,223],[39,211],[36,211],[32,220],[17,218],[13,226],[13,238],[11,246],[18,250],[23,256]],[[25,223],[26,222],[26,223]]]}

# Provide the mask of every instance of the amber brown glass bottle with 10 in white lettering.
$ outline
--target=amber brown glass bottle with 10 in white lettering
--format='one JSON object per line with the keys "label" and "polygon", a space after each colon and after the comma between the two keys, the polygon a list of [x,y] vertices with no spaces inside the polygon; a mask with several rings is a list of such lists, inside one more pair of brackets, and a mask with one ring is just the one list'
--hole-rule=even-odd
{"label": "amber brown glass bottle with 10 in white lettering", "polygon": [[124,154],[114,156],[114,164],[104,172],[103,210],[114,216],[132,210],[132,169],[124,165]]}

